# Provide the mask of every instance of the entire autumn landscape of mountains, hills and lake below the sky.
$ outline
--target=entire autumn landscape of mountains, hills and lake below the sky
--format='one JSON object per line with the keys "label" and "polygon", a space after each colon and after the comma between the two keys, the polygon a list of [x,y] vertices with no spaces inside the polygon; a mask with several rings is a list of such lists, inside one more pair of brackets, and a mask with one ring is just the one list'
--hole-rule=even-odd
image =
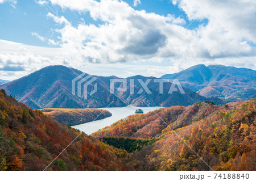
{"label": "entire autumn landscape of mountains, hills and lake below the sky", "polygon": [[[97,83],[77,79],[81,92],[97,87],[86,99],[72,88],[80,75]],[[197,65],[162,78],[57,65],[0,85],[0,170],[256,169],[254,70]]]}

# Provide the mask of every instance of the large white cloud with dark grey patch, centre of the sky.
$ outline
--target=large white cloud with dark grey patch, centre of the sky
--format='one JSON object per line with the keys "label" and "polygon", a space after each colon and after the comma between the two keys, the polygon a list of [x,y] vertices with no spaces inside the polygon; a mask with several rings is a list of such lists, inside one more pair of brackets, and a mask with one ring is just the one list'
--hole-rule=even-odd
{"label": "large white cloud with dark grey patch, centre of the sky", "polygon": [[[177,26],[185,20],[174,15],[161,16],[146,11],[135,11],[122,1],[51,1],[63,9],[88,11],[94,20],[100,19],[100,26],[80,23],[71,24],[57,32],[61,33],[61,47],[79,54],[80,60],[102,62],[126,62],[154,57],[166,47],[184,28]],[[60,19],[48,13],[56,23]],[[64,17],[61,17],[65,19]],[[85,44],[86,42],[86,44]],[[68,48],[69,47],[69,48]]]}

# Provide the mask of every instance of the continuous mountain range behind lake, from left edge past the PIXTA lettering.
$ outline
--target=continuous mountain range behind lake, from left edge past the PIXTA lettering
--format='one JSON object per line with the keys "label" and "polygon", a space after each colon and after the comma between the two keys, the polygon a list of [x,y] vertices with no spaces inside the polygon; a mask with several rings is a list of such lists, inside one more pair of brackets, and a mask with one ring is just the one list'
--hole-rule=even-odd
{"label": "continuous mountain range behind lake, from left edge past the PIXTA lettering", "polygon": [[[80,74],[82,74],[81,71],[65,66],[48,66],[26,77],[6,83],[0,88],[5,89],[8,94],[13,95],[17,100],[33,109],[122,107],[128,104],[134,104],[135,106],[188,106],[203,100],[222,103],[220,99],[205,98],[187,88],[184,88],[185,94],[181,94],[179,89],[172,92],[172,94],[168,94],[168,90],[172,85],[171,82],[164,83],[163,94],[159,94],[159,83],[154,82],[154,79],[158,78],[143,77],[141,75],[127,79],[114,76],[90,75],[91,80],[93,78],[96,80],[93,85],[88,86],[88,92],[94,89],[95,83],[97,83],[97,91],[93,95],[87,94],[88,98],[83,99],[77,94],[72,94],[72,79]],[[88,76],[88,74],[84,74],[84,76]],[[110,81],[112,79],[126,81],[127,89],[121,92],[115,89],[114,94],[110,94]],[[134,79],[134,85],[131,79]],[[139,79],[143,82],[149,81],[147,87],[150,93],[144,91],[143,82],[139,82]],[[80,80],[81,78],[77,81]],[[88,80],[84,83],[88,83]],[[121,86],[122,83],[115,83],[115,88],[120,88]],[[134,88],[134,92],[131,92],[131,87]],[[83,91],[84,89],[82,88],[81,90]],[[142,92],[139,92],[140,90]],[[75,93],[77,93],[77,90]]]}

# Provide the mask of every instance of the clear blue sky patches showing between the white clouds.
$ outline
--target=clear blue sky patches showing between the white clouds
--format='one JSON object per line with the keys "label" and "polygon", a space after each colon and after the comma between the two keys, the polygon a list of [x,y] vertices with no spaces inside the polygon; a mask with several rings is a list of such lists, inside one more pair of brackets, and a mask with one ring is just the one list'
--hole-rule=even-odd
{"label": "clear blue sky patches showing between the white clouds", "polygon": [[[125,1],[133,7],[133,0]],[[15,6],[15,7],[13,7]],[[46,15],[48,12],[52,12],[46,6],[40,6],[35,1],[19,0],[15,5],[12,2],[6,2],[0,5],[0,39],[15,41],[18,43],[24,43],[28,45],[53,47],[46,41],[40,41],[35,36],[32,36],[32,32],[38,33],[40,36],[56,39],[60,36],[59,33],[52,31],[56,27],[55,22],[52,19],[48,19]],[[77,26],[81,22],[81,18],[85,19],[85,24],[100,24],[101,21],[93,20],[89,12],[71,11],[69,9],[61,9],[59,6],[51,6],[59,16],[65,16],[65,18],[72,22],[73,26]],[[184,11],[179,7],[174,6],[168,0],[151,0],[141,1],[141,4],[134,7],[135,10],[145,10],[147,12],[154,12],[155,14],[167,16],[168,14],[174,14],[176,17],[182,17],[186,20],[183,24],[187,27],[191,21],[187,19]],[[206,23],[207,20],[196,20],[193,22],[189,29],[196,28],[199,24]]]}

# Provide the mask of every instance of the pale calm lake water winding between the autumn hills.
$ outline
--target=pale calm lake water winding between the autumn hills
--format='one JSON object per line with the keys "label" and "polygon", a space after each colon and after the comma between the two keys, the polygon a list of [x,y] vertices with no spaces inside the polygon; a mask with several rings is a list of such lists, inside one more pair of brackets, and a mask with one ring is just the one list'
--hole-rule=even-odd
{"label": "pale calm lake water winding between the autumn hills", "polygon": [[96,120],[93,122],[75,125],[72,128],[79,129],[80,131],[83,131],[86,134],[92,134],[93,132],[96,132],[99,129],[105,128],[105,127],[115,123],[118,120],[126,118],[129,115],[134,115],[135,110],[142,109],[144,111],[144,113],[147,113],[152,110],[159,110],[160,108],[163,108],[163,107],[127,106],[127,107],[100,108],[101,110],[108,110],[109,112],[112,113],[112,116],[106,117],[105,119]]}

